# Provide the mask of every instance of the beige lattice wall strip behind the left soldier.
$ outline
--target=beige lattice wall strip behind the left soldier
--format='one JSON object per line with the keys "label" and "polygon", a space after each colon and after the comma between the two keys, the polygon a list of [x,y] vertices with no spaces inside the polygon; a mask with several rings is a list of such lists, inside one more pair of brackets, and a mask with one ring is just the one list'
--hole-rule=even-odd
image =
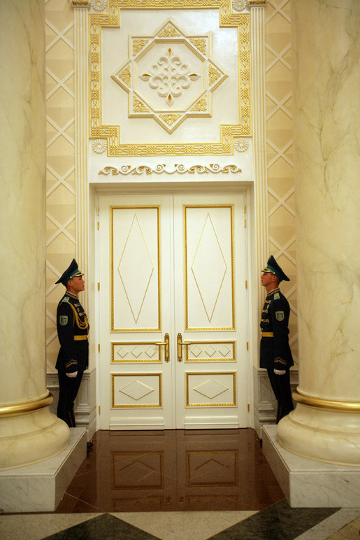
{"label": "beige lattice wall strip behind the left soldier", "polygon": [[[56,308],[64,287],[55,285],[75,257],[75,95],[73,8],[45,2],[46,69],[46,346],[55,370],[59,342]],[[68,264],[69,264],[68,263]]]}

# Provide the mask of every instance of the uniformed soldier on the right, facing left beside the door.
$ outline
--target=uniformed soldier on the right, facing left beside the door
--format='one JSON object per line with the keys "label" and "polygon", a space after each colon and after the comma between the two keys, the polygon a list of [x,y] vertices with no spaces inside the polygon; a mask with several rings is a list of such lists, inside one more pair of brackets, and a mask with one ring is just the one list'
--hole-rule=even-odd
{"label": "uniformed soldier on the right, facing left beside the door", "polygon": [[289,281],[273,255],[261,274],[266,299],[261,313],[260,367],[268,371],[271,388],[278,402],[276,423],[293,410],[290,367],[294,365],[289,346],[289,302],[280,292],[280,281]]}

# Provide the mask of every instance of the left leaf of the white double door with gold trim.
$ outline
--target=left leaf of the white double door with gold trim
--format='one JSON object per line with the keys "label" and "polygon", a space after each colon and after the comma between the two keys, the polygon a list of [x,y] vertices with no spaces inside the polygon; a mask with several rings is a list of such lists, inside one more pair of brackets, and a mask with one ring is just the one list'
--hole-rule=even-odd
{"label": "left leaf of the white double door with gold trim", "polygon": [[173,424],[171,394],[164,394],[172,367],[160,344],[164,320],[171,320],[170,201],[99,198],[101,429]]}

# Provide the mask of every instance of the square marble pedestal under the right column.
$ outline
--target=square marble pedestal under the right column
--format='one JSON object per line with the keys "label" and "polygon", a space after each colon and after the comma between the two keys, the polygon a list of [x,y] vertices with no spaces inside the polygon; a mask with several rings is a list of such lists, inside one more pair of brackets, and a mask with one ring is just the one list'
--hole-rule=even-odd
{"label": "square marble pedestal under the right column", "polygon": [[360,467],[308,460],[278,443],[276,425],[263,425],[263,452],[291,508],[360,506]]}

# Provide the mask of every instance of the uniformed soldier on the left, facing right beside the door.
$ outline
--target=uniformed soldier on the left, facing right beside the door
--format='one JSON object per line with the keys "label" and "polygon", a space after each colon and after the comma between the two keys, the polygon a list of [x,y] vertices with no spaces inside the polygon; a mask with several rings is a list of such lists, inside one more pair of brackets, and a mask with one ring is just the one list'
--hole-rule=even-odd
{"label": "uniformed soldier on the left, facing right beside the door", "polygon": [[89,322],[78,301],[78,293],[85,289],[82,276],[73,259],[69,268],[56,282],[66,287],[66,292],[57,306],[57,335],[60,342],[56,363],[59,377],[57,416],[69,427],[75,427],[74,401],[89,359]]}

